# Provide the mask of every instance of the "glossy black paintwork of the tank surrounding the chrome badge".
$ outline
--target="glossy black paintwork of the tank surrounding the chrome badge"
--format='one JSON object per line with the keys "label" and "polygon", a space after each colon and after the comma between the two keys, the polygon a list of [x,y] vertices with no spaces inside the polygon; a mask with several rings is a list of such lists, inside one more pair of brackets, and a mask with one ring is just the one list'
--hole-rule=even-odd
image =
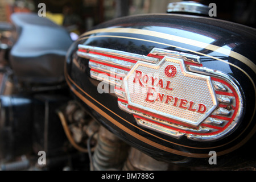
{"label": "glossy black paintwork of the tank surrounding the chrome badge", "polygon": [[[255,66],[256,31],[253,28],[241,26],[240,24],[200,16],[158,14],[119,18],[100,24],[100,26],[97,26],[94,30],[108,27],[152,30],[213,44],[218,47],[230,49],[247,57]],[[93,36],[98,37],[95,38]],[[113,38],[113,36],[115,36],[115,38]],[[124,39],[120,38],[120,36],[133,39]],[[149,42],[143,41],[142,39],[149,40]],[[110,48],[141,55],[147,55],[154,47],[199,55],[203,67],[225,72],[233,76],[240,83],[244,92],[243,107],[245,113],[242,116],[243,120],[232,134],[216,142],[196,142],[188,140],[185,137],[174,139],[138,127],[133,115],[119,109],[115,94],[99,94],[97,92],[99,81],[90,78],[90,68],[88,67],[89,60],[77,56],[76,51],[78,44]],[[236,67],[209,56],[232,63],[236,65]],[[73,64],[73,60],[79,63],[79,68]],[[162,39],[154,35],[100,32],[81,36],[80,39],[72,45],[69,49],[66,69],[66,80],[72,88],[74,96],[84,105],[86,110],[88,110],[94,118],[98,119],[102,125],[117,134],[118,137],[156,159],[177,164],[191,165],[193,167],[213,167],[209,165],[207,158],[209,151],[213,150],[217,152],[218,156],[217,167],[230,167],[241,163],[244,166],[250,166],[255,162],[252,146],[253,143],[255,143],[254,85],[256,75],[254,68],[251,67],[250,64],[247,64],[246,61],[239,60],[239,57],[234,58],[207,48]],[[77,93],[79,97],[77,97]],[[85,104],[84,98],[87,104]],[[88,101],[90,106],[88,106]],[[91,106],[93,108],[91,108]],[[97,109],[95,109],[96,107]],[[98,109],[100,109],[100,114],[98,113]],[[105,115],[108,115],[108,118],[106,118],[105,115],[102,117],[102,111]],[[253,119],[251,119],[252,117]],[[112,121],[110,121],[110,118]],[[118,123],[113,122],[113,119]],[[123,129],[128,129],[130,133],[127,133]],[[154,144],[152,144],[152,142]],[[163,147],[158,147],[158,145]],[[176,151],[179,152],[177,153]],[[202,155],[204,157],[201,157]]]}

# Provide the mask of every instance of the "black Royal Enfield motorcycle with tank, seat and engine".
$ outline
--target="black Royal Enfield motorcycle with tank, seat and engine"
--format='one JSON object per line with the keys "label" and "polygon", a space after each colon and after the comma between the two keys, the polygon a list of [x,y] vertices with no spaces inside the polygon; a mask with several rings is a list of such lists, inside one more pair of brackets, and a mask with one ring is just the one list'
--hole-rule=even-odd
{"label": "black Royal Enfield motorcycle with tank, seat and engine", "polygon": [[255,170],[255,29],[172,5],[179,13],[117,18],[74,42],[13,14],[1,169]]}

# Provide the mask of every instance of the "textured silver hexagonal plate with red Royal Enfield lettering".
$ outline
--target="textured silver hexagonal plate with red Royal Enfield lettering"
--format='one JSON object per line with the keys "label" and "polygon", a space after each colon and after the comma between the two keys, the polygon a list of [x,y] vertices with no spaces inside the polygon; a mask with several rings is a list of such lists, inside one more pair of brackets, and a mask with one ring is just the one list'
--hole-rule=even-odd
{"label": "textured silver hexagonal plate with red Royal Enfield lettering", "polygon": [[187,72],[181,59],[165,57],[156,65],[139,61],[123,84],[129,109],[179,125],[197,127],[217,106],[210,77]]}

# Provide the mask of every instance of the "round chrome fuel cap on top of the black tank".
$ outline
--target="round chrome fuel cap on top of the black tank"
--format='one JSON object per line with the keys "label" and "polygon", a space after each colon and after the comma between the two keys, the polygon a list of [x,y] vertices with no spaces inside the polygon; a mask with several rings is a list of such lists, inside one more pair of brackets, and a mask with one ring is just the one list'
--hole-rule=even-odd
{"label": "round chrome fuel cap on top of the black tank", "polygon": [[194,1],[172,2],[168,5],[167,13],[185,12],[208,15],[210,8]]}

